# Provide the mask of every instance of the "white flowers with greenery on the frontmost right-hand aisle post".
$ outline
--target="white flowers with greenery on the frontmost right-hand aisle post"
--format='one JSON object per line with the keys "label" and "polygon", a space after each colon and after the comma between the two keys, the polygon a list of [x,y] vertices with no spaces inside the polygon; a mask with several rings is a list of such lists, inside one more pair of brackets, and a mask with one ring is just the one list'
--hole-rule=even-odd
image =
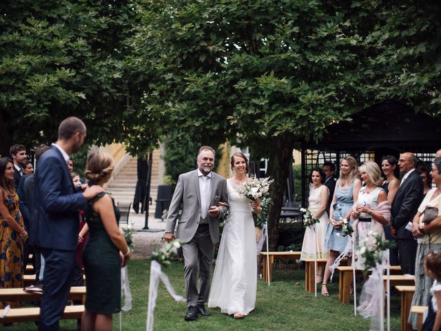
{"label": "white flowers with greenery on the frontmost right-hand aisle post", "polygon": [[382,254],[389,248],[394,248],[395,243],[383,240],[377,232],[369,231],[367,237],[360,241],[358,253],[363,259],[363,268],[365,274],[376,265],[382,263]]}

